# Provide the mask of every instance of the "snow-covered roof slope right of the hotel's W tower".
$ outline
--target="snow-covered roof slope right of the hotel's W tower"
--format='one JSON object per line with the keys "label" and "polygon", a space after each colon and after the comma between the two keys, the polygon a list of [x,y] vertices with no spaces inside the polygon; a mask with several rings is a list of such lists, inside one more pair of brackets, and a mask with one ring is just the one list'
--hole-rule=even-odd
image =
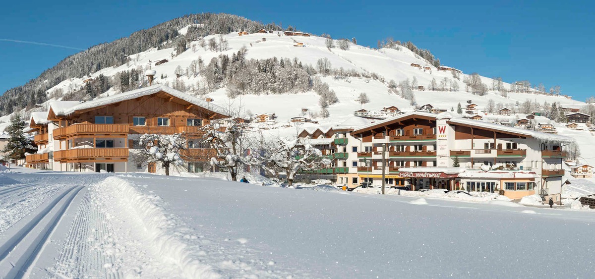
{"label": "snow-covered roof slope right of the hotel's W tower", "polygon": [[437,119],[448,119],[450,123],[454,124],[462,124],[462,125],[469,125],[474,127],[480,128],[488,128],[492,130],[499,130],[503,132],[515,133],[515,134],[522,134],[524,136],[533,137],[541,142],[559,142],[559,143],[570,143],[575,142],[576,140],[572,137],[561,136],[559,134],[548,134],[548,133],[541,133],[540,131],[533,131],[533,130],[526,130],[522,128],[515,128],[515,127],[508,127],[502,126],[494,123],[487,123],[484,121],[477,121],[471,120],[461,117],[455,117],[455,115],[451,114],[450,112],[443,112],[439,114]]}

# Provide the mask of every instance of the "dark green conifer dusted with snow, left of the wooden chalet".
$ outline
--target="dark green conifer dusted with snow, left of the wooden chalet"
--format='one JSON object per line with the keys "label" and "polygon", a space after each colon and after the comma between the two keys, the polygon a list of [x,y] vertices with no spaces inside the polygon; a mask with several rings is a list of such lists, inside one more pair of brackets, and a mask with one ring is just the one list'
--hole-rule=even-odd
{"label": "dark green conifer dusted with snow, left of the wooden chalet", "polygon": [[37,150],[25,136],[23,132],[25,127],[27,127],[27,123],[21,118],[20,114],[15,113],[10,117],[10,125],[4,129],[10,137],[4,148],[0,151],[5,153],[4,156],[7,159],[23,159],[26,152]]}

